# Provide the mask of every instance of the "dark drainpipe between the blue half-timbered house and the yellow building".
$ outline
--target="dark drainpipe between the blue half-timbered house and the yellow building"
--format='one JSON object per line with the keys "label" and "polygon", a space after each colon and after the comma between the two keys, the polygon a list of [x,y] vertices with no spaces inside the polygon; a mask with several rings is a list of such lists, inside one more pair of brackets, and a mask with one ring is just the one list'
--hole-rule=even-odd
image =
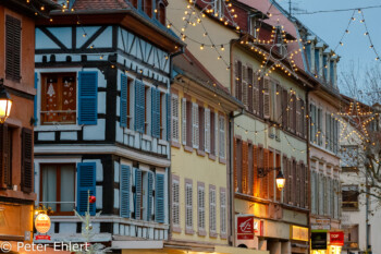
{"label": "dark drainpipe between the blue half-timbered house and the yellow building", "polygon": [[[173,58],[184,53],[184,47],[181,47],[181,50],[175,52],[175,53],[171,53],[170,57],[170,93],[171,93],[171,84],[173,82],[173,77],[172,77],[172,73],[173,73]],[[171,122],[171,121],[170,121]],[[169,138],[170,140],[170,138]],[[172,161],[172,145],[171,145],[171,140],[169,141],[169,159]],[[171,197],[172,197],[172,166],[168,167],[168,225],[170,226],[168,228],[168,241],[172,240],[172,230],[171,230],[171,221],[172,221],[172,213],[171,213]]]}

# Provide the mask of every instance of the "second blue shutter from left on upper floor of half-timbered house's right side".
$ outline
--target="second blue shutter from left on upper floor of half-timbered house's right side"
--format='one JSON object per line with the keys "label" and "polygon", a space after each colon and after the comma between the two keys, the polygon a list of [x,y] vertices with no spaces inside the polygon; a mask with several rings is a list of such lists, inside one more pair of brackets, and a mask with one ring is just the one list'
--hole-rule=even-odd
{"label": "second blue shutter from left on upper floor of half-timbered house's right side", "polygon": [[145,86],[135,80],[135,131],[145,132]]}

